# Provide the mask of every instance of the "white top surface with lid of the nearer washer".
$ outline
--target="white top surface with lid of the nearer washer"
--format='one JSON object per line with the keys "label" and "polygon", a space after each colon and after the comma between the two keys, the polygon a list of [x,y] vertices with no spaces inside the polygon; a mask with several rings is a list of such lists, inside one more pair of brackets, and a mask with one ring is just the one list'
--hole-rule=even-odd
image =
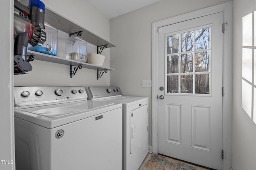
{"label": "white top surface with lid of the nearer washer", "polygon": [[121,104],[108,101],[78,101],[19,109],[14,115],[42,127],[54,128],[120,107]]}

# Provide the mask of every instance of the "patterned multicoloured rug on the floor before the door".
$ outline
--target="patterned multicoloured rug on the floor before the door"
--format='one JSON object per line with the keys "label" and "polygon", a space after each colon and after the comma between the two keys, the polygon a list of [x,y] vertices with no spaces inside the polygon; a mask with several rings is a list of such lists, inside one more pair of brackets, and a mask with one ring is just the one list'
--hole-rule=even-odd
{"label": "patterned multicoloured rug on the floor before the door", "polygon": [[142,170],[208,170],[186,162],[168,158],[166,156],[151,154]]}

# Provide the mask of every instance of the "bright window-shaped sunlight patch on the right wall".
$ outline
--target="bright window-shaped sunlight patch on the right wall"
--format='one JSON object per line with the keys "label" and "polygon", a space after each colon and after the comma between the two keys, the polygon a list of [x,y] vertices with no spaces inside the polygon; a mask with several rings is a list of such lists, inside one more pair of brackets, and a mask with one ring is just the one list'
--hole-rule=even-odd
{"label": "bright window-shaped sunlight patch on the right wall", "polygon": [[256,123],[256,12],[242,18],[242,108]]}

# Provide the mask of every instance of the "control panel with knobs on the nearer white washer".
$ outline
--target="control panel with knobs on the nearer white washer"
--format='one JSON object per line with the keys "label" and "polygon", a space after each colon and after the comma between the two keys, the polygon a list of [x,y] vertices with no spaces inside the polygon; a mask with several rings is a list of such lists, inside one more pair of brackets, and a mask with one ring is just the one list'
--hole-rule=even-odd
{"label": "control panel with knobs on the nearer white washer", "polygon": [[28,106],[87,100],[84,87],[28,86],[14,87],[14,106]]}

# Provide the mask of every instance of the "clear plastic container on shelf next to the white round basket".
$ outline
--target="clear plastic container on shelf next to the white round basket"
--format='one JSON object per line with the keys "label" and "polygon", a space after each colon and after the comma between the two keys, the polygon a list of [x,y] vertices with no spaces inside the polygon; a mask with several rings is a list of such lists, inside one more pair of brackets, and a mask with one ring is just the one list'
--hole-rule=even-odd
{"label": "clear plastic container on shelf next to the white round basket", "polygon": [[66,59],[86,62],[87,42],[76,36],[66,39]]}

